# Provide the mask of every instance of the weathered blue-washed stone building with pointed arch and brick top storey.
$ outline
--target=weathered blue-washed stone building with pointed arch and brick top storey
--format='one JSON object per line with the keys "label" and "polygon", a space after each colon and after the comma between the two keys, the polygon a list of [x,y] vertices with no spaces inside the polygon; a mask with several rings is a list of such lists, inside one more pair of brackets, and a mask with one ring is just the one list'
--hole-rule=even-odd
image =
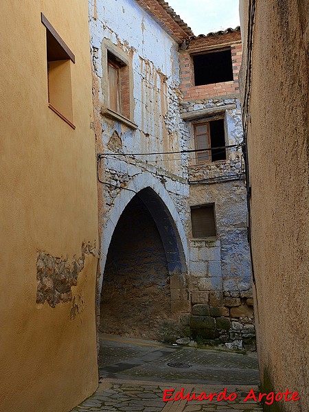
{"label": "weathered blue-washed stone building with pointed arch and brick top storey", "polygon": [[253,349],[240,29],[196,37],[162,0],[89,19],[100,330]]}

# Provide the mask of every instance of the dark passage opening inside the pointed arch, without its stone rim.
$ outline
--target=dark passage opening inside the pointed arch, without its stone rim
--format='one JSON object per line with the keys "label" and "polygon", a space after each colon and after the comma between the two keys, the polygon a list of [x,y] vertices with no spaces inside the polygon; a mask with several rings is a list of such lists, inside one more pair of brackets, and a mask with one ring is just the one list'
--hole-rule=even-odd
{"label": "dark passage opening inside the pointed arch, without its stone rim", "polygon": [[157,225],[135,196],[119,218],[101,295],[101,332],[159,339],[170,314],[170,275]]}

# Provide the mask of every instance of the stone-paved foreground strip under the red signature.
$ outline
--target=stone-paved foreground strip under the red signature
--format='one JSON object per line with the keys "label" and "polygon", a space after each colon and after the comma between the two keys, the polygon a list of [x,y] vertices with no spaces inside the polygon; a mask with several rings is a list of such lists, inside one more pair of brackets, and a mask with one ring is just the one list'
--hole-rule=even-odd
{"label": "stone-paved foreground strip under the red signature", "polygon": [[[181,391],[187,394],[195,392],[196,396],[206,392],[218,393],[227,388],[227,394],[236,393],[237,398],[231,402],[222,400],[172,400],[163,401],[165,389],[175,389],[173,394]],[[243,402],[253,388],[244,385],[188,385],[177,382],[144,382],[138,380],[102,379],[93,396],[82,402],[71,412],[258,412],[262,407],[257,402]]]}

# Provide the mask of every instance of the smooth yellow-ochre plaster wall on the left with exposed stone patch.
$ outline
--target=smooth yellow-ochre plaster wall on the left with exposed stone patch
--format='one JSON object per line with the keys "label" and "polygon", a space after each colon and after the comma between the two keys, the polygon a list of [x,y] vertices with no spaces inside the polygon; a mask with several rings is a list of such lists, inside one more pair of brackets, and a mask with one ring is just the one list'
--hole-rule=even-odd
{"label": "smooth yellow-ochre plaster wall on the left with exposed stone patch", "polygon": [[[41,12],[76,56],[73,123],[47,107]],[[36,251],[98,245],[87,0],[12,0],[0,27],[0,411],[62,412],[98,385],[95,277],[86,255],[73,301],[36,304]]]}

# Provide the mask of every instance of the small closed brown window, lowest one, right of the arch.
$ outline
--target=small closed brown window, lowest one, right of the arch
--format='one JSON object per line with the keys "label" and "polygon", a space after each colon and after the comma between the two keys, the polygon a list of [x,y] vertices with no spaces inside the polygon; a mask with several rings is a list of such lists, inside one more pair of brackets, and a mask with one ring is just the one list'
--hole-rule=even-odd
{"label": "small closed brown window, lowest one, right of the arch", "polygon": [[209,238],[216,236],[214,204],[191,207],[192,236]]}

